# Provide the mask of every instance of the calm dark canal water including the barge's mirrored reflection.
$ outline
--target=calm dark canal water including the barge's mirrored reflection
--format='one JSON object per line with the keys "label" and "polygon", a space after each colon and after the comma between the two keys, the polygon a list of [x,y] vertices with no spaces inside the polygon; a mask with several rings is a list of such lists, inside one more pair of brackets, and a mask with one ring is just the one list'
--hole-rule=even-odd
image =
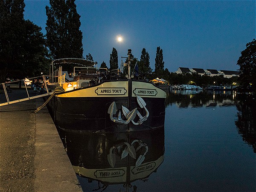
{"label": "calm dark canal water including the barge's mirrored reflection", "polygon": [[255,100],[171,91],[164,128],[60,136],[86,192],[256,191]]}

